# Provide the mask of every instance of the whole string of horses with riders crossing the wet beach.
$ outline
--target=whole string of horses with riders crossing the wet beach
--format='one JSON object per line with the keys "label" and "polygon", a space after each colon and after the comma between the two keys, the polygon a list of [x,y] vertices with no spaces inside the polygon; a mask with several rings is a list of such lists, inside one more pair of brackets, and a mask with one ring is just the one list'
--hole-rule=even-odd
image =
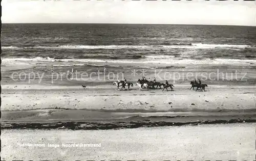
{"label": "whole string of horses with riders crossing the wet beach", "polygon": [[[128,87],[128,90],[130,90],[130,87],[133,87],[133,83],[130,83],[130,82],[124,82],[124,81],[120,81],[119,83],[118,82],[113,82],[113,85],[116,85],[117,86],[117,89],[119,90],[119,87],[122,87],[121,89],[124,90],[125,87],[127,86]],[[174,90],[174,85],[172,84],[169,84],[169,85],[166,85],[164,83],[160,83],[160,82],[153,82],[153,81],[147,81],[147,80],[141,80],[141,79],[138,79],[136,85],[139,87],[140,90],[142,90],[143,88],[144,89],[157,89],[159,87],[159,89],[162,89],[161,87],[163,87],[163,90],[166,89],[168,91],[168,88],[170,88],[172,91]],[[200,88],[200,90],[205,90],[205,87],[208,87],[206,84],[199,84],[197,82],[193,82],[191,81],[190,82],[190,85],[191,85],[191,88],[189,90],[191,90],[193,88],[196,87],[196,91]]]}

